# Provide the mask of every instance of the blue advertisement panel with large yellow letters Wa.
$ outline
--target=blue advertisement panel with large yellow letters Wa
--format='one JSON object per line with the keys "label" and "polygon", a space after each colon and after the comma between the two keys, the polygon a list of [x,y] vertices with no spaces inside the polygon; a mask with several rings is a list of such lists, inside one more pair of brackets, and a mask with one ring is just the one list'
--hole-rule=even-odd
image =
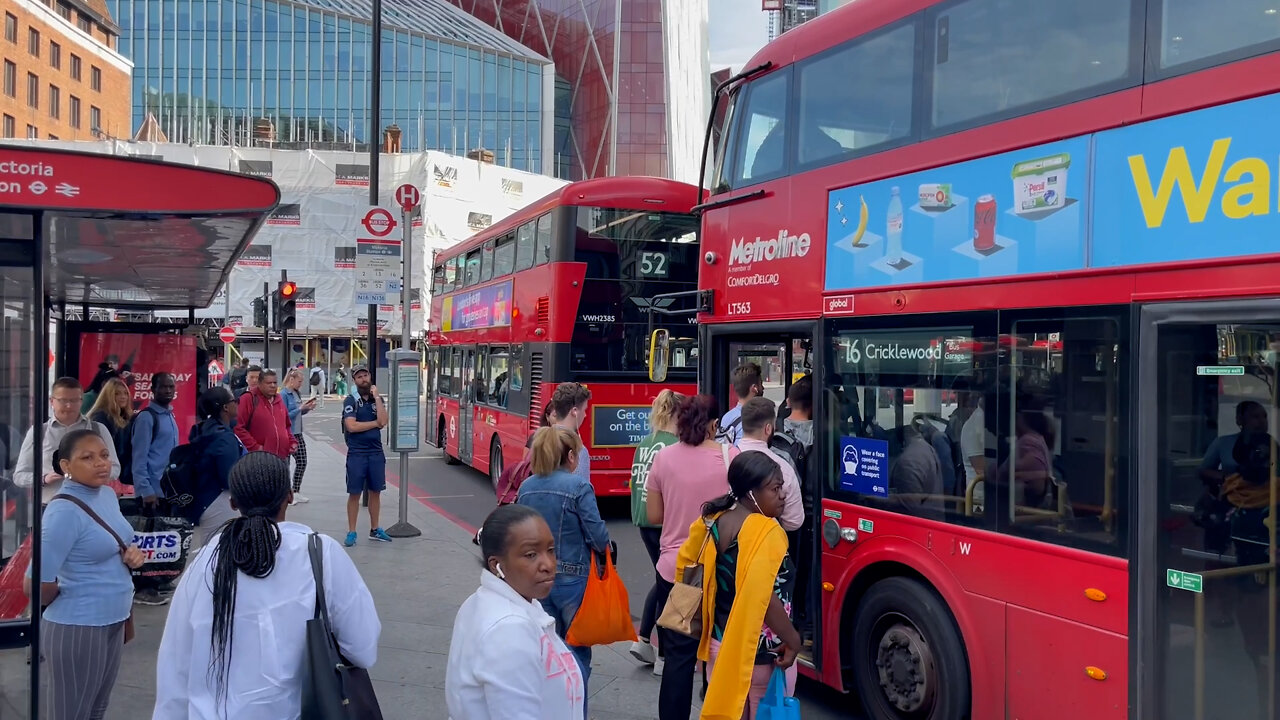
{"label": "blue advertisement panel with large yellow letters Wa", "polygon": [[1091,264],[1280,250],[1276,117],[1272,95],[1098,133]]}

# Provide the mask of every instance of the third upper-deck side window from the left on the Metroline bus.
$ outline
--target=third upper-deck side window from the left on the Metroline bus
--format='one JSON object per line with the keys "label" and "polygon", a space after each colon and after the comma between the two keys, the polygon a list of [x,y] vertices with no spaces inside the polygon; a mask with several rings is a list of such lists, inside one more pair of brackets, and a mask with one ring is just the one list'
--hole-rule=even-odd
{"label": "third upper-deck side window from the left on the Metroline bus", "polygon": [[1123,0],[946,5],[931,27],[933,129],[954,132],[1138,82],[1134,23],[1133,3]]}

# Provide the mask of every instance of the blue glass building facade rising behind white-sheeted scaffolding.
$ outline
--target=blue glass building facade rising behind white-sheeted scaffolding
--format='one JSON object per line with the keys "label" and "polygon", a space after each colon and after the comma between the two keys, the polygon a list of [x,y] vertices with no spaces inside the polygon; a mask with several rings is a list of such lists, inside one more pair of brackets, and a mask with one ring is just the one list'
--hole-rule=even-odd
{"label": "blue glass building facade rising behind white-sheeted scaffolding", "polygon": [[[370,127],[370,0],[108,0],[134,63],[133,126],[173,142],[361,147]],[[381,126],[402,150],[492,150],[544,167],[553,124],[547,58],[444,0],[383,0]],[[259,142],[261,145],[261,142]]]}

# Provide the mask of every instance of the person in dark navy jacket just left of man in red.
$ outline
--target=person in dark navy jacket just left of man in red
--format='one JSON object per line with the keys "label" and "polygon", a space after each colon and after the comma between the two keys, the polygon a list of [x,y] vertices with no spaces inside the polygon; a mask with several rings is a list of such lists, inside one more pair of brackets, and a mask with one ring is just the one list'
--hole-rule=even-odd
{"label": "person in dark navy jacket just left of man in red", "polygon": [[191,428],[187,442],[200,447],[201,474],[196,500],[183,515],[196,525],[191,539],[191,557],[209,542],[228,520],[239,518],[232,509],[232,468],[244,456],[244,445],[232,429],[239,415],[236,395],[215,386],[200,395],[196,404],[200,424]]}

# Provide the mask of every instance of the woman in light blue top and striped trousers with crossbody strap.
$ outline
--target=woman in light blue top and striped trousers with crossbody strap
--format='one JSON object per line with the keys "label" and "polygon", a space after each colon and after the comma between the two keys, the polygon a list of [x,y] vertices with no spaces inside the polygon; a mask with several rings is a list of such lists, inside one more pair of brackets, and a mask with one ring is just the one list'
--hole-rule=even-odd
{"label": "woman in light blue top and striped trousers with crossbody strap", "polygon": [[[49,720],[101,720],[133,635],[133,579],[145,556],[120,514],[111,454],[95,430],[72,430],[54,454],[64,474],[40,533],[41,651],[49,667]],[[127,546],[127,547],[125,547]],[[29,569],[28,569],[29,573]],[[26,591],[31,593],[31,578]]]}

